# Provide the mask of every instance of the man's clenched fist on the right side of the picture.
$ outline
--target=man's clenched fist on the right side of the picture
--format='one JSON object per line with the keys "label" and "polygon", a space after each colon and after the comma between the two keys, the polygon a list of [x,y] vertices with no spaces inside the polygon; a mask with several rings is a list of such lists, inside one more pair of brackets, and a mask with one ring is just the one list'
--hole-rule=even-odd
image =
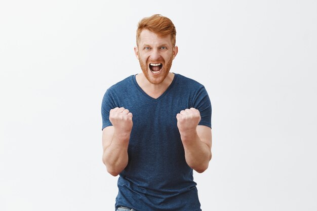
{"label": "man's clenched fist on the right side of the picture", "polygon": [[186,133],[196,130],[198,123],[201,121],[201,114],[195,108],[185,109],[177,115],[177,127],[180,133]]}

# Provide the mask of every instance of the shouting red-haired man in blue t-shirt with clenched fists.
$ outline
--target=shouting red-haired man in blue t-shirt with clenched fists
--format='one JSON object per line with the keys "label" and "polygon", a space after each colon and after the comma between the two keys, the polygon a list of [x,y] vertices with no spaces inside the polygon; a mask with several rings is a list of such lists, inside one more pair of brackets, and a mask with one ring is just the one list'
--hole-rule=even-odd
{"label": "shouting red-haired man in blue t-shirt with clenched fists", "polygon": [[103,162],[120,174],[116,210],[201,210],[192,174],[211,159],[211,103],[203,85],[170,72],[175,43],[170,19],[142,19],[134,48],[142,73],[103,97]]}

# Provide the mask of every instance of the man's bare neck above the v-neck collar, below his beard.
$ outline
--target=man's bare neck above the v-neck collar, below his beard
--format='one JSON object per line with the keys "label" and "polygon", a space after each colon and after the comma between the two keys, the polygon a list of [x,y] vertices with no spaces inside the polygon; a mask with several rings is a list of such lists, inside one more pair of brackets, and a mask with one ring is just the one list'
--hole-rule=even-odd
{"label": "man's bare neck above the v-neck collar, below his beard", "polygon": [[152,98],[158,98],[160,97],[167,88],[171,85],[175,74],[169,73],[166,78],[163,80],[162,83],[158,85],[154,85],[153,83],[150,83],[143,73],[139,73],[136,75],[136,81],[138,85],[141,87],[141,89],[150,97]]}

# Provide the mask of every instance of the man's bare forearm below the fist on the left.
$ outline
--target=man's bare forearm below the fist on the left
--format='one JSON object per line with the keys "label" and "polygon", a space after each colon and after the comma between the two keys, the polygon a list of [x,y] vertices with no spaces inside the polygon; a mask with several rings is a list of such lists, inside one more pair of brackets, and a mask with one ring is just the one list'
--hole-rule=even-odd
{"label": "man's bare forearm below the fist on the left", "polygon": [[120,174],[128,164],[128,144],[130,134],[114,131],[112,141],[104,148],[103,163],[112,176]]}

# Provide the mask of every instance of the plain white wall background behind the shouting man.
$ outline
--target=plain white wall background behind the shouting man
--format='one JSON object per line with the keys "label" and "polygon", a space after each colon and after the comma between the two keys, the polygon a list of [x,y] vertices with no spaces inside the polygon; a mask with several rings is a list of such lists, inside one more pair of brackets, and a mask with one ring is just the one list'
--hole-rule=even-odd
{"label": "plain white wall background behind the shouting man", "polygon": [[104,92],[140,72],[138,21],[177,29],[171,71],[205,85],[202,208],[317,210],[316,1],[1,1],[0,210],[113,210]]}

